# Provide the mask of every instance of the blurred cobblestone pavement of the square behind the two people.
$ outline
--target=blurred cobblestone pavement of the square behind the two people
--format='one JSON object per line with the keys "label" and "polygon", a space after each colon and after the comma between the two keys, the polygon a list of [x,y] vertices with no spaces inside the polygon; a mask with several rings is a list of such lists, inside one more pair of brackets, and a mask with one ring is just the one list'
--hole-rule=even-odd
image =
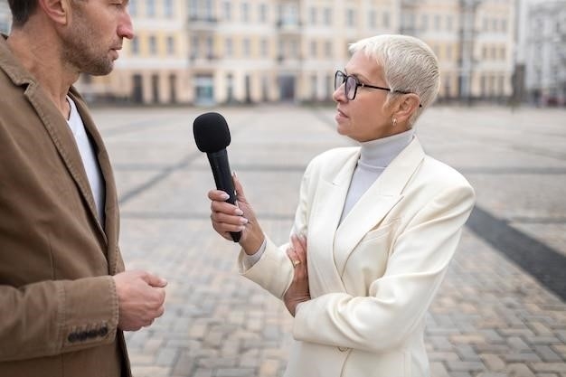
{"label": "blurred cobblestone pavement of the square behind the two people", "polygon": [[[127,267],[169,281],[165,315],[127,334],[133,371],[282,376],[292,318],[238,275],[238,248],[210,227],[212,174],[193,142],[193,119],[206,110],[94,109],[115,166]],[[351,144],[335,133],[334,109],[215,110],[231,127],[232,169],[264,230],[283,242],[307,161]],[[429,310],[433,376],[566,377],[566,111],[436,107],[417,133],[467,176],[483,216],[465,229]]]}

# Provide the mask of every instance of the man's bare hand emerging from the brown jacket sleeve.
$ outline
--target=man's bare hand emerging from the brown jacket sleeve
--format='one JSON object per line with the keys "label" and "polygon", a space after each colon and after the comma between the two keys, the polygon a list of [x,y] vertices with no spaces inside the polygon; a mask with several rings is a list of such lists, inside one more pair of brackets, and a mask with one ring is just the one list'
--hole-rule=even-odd
{"label": "man's bare hand emerging from the brown jacket sleeve", "polygon": [[118,327],[137,331],[151,325],[165,311],[164,278],[146,271],[125,271],[114,277],[118,293]]}

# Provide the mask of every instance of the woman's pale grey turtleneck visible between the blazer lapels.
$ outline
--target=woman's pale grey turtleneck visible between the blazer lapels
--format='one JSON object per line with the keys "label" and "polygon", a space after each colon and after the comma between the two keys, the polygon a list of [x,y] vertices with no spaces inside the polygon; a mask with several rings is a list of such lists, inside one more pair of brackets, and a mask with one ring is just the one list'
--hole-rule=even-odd
{"label": "woman's pale grey turtleneck visible between the blazer lapels", "polygon": [[354,204],[360,200],[363,193],[379,178],[383,170],[398,156],[414,137],[414,129],[391,137],[360,143],[360,159],[355,166],[350,188],[344,202],[344,209],[340,222],[352,210]]}

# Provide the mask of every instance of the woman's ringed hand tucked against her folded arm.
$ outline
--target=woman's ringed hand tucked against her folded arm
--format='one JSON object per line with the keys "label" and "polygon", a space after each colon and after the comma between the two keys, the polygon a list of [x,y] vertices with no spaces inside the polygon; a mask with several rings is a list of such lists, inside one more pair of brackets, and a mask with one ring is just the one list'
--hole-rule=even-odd
{"label": "woman's ringed hand tucked against her folded arm", "polygon": [[291,246],[287,250],[287,255],[295,267],[293,282],[283,296],[283,301],[291,316],[295,316],[297,305],[310,300],[308,289],[308,270],[307,270],[307,239],[303,236],[291,236]]}

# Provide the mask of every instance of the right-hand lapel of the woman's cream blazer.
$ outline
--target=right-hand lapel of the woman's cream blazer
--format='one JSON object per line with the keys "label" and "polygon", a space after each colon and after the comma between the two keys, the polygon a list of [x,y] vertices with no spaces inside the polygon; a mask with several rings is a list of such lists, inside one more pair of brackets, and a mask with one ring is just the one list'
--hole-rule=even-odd
{"label": "right-hand lapel of the woman's cream blazer", "polygon": [[363,236],[378,227],[387,213],[401,201],[404,187],[423,158],[424,152],[415,137],[346,215],[335,234],[335,265],[340,274]]}

